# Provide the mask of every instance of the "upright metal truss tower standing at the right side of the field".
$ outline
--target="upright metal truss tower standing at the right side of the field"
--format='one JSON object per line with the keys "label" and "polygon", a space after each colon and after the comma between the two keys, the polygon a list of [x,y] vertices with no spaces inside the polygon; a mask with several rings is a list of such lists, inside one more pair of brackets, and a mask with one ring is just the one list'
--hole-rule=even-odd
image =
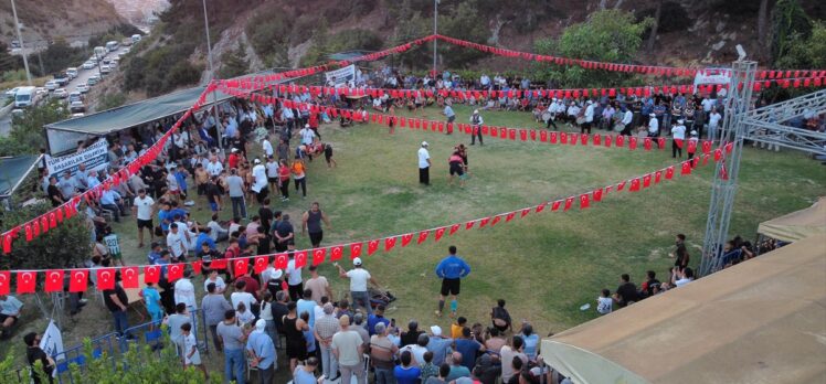
{"label": "upright metal truss tower standing at the right side of the field", "polygon": [[714,181],[711,185],[711,202],[708,220],[706,221],[706,236],[702,244],[702,260],[700,276],[711,274],[720,267],[722,246],[729,235],[729,223],[734,207],[738,174],[740,173],[740,156],[743,149],[746,118],[751,108],[751,94],[758,63],[737,61],[731,67],[731,83],[729,97],[726,99],[720,147],[733,143],[731,152],[716,163]]}

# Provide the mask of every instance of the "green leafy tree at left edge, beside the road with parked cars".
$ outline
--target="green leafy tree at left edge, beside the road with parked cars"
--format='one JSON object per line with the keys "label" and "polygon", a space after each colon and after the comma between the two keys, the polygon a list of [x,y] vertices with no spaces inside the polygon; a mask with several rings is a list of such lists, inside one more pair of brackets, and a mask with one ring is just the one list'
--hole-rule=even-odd
{"label": "green leafy tree at left edge, beside the road with parked cars", "polygon": [[41,103],[11,119],[8,137],[0,137],[0,156],[38,153],[45,148],[43,126],[68,118],[68,109],[56,99]]}

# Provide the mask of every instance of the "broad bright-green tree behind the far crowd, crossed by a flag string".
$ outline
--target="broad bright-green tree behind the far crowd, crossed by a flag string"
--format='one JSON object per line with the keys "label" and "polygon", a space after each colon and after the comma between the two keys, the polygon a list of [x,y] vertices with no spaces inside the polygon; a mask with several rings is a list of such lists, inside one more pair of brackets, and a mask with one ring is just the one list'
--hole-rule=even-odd
{"label": "broad bright-green tree behind the far crowd, crossed by a flag string", "polygon": [[[597,11],[585,22],[566,28],[559,40],[548,38],[537,41],[534,51],[571,58],[631,63],[643,43],[643,34],[652,22],[649,18],[636,21],[633,13],[621,10]],[[541,64],[537,68],[536,78],[551,79],[562,87],[613,86],[633,76],[626,73],[555,64]]]}

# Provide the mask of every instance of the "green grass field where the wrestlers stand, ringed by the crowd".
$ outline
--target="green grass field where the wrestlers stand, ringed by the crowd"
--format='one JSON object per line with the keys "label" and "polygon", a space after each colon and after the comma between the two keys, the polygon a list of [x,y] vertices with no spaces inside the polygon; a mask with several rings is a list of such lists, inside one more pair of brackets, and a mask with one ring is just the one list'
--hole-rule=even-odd
{"label": "green grass field where the wrestlers stand, ringed by the crowd", "polygon": [[[469,108],[456,110],[457,120],[466,121]],[[427,109],[425,117],[442,119],[435,108]],[[484,117],[493,126],[538,126],[523,113]],[[274,199],[274,207],[289,213],[299,228],[301,212],[310,202],[320,202],[332,221],[322,245],[484,217],[587,192],[677,162],[670,158],[670,148],[647,152],[487,139],[484,147],[469,147],[473,175],[459,188],[447,184],[447,157],[455,145],[469,143],[465,135],[400,127],[389,135],[386,127],[377,125],[347,129],[328,125],[321,134],[333,145],[338,168],[327,169],[316,160],[308,170],[308,198],[293,194],[287,204]],[[422,140],[430,142],[434,162],[430,188],[417,183],[416,150]],[[258,150],[255,145],[253,152]],[[732,236],[753,238],[758,223],[809,205],[826,186],[823,166],[801,153],[748,148],[742,164]],[[399,297],[393,318],[445,327],[449,319],[436,319],[433,313],[440,286],[433,269],[447,246],[455,244],[474,268],[463,284],[459,314],[487,323],[490,307],[504,298],[515,319],[528,319],[540,333],[559,332],[594,318],[593,309],[582,312],[579,307],[593,302],[602,288],[613,290],[620,274],[631,274],[634,281],[647,269],[665,275],[673,263],[667,255],[676,233],[688,236],[691,265],[699,264],[712,170],[701,168],[690,177],[675,177],[638,193],[611,193],[586,211],[548,210],[512,223],[502,221],[493,228],[462,230],[438,243],[431,236],[425,244],[416,245],[414,239],[402,248],[399,242],[390,253],[382,245],[364,257],[366,268]],[[199,221],[208,220],[206,210],[194,213]],[[222,218],[230,215],[225,211]],[[136,247],[134,223],[127,223],[115,227],[121,234],[126,259],[145,263],[144,250]],[[299,237],[297,247],[309,248],[308,238]],[[332,265],[324,264],[320,273],[333,281],[335,291],[347,291],[347,281],[336,276]]]}

